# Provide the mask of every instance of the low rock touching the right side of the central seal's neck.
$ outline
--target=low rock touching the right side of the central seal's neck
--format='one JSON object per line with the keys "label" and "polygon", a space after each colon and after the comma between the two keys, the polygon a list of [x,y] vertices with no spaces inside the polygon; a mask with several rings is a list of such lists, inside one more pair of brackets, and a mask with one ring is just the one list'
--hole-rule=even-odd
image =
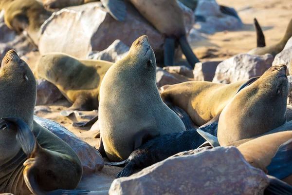
{"label": "low rock touching the right side of the central seal's neck", "polygon": [[164,85],[173,85],[185,81],[189,81],[189,79],[178,74],[168,73],[160,67],[156,68],[156,85],[158,88]]}

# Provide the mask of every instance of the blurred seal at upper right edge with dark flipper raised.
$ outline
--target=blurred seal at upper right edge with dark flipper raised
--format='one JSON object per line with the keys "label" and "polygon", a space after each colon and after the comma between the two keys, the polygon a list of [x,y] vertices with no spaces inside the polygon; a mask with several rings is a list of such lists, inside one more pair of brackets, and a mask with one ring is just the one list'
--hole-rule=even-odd
{"label": "blurred seal at upper right edge with dark flipper raised", "polygon": [[[256,25],[256,29],[257,29],[257,36],[260,35],[260,26],[259,24],[257,23],[257,21],[255,20],[255,25]],[[263,36],[263,35],[262,35]],[[259,46],[262,46],[263,45],[263,42],[264,41],[264,38],[261,38],[260,37],[257,37],[257,40],[258,39],[263,39],[261,40],[261,44]],[[292,20],[290,20],[289,24],[288,24],[288,27],[287,27],[287,30],[286,30],[286,33],[283,37],[283,39],[281,39],[278,43],[276,44],[273,44],[273,45],[269,45],[269,46],[263,46],[263,47],[256,47],[255,49],[252,49],[251,51],[248,52],[248,54],[252,54],[252,55],[265,55],[265,54],[272,54],[273,57],[275,57],[278,53],[280,53],[287,41],[292,37]],[[264,43],[265,45],[265,43]]]}

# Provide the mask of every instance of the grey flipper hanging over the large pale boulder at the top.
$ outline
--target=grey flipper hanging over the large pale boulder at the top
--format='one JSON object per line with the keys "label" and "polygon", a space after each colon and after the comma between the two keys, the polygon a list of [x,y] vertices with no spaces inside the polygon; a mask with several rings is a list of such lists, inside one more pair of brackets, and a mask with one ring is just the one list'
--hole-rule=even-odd
{"label": "grey flipper hanging over the large pale boulder at the top", "polygon": [[127,16],[126,4],[123,0],[100,0],[110,15],[118,21],[125,21]]}

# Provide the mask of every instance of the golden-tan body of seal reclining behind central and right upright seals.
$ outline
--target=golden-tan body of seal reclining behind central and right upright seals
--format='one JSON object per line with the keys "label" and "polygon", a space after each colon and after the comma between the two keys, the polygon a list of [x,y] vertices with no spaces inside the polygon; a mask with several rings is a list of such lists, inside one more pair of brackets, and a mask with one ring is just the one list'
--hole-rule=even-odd
{"label": "golden-tan body of seal reclining behind central and right upright seals", "polygon": [[245,82],[221,84],[189,81],[162,87],[161,98],[182,108],[198,125],[204,125],[221,113]]}

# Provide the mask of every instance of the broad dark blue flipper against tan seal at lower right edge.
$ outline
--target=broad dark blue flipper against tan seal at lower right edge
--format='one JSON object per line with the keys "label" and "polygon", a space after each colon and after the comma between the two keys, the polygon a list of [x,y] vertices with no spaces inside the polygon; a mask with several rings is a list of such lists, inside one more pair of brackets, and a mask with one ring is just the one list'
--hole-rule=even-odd
{"label": "broad dark blue flipper against tan seal at lower right edge", "polygon": [[267,166],[269,175],[283,179],[292,175],[292,139],[286,141],[278,148],[271,163]]}

